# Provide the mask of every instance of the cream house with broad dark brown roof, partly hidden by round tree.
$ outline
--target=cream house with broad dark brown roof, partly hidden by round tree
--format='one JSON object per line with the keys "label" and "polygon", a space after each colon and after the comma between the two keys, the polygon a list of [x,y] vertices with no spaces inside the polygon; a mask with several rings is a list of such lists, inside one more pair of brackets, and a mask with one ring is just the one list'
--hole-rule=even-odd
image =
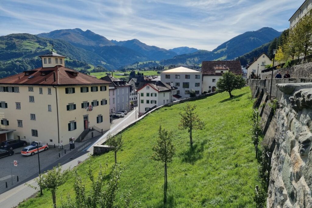
{"label": "cream house with broad dark brown roof, partly hidden by round tree", "polygon": [[231,61],[203,61],[202,62],[202,92],[214,92],[217,88],[217,81],[225,72],[232,72],[236,75],[242,74],[241,62]]}

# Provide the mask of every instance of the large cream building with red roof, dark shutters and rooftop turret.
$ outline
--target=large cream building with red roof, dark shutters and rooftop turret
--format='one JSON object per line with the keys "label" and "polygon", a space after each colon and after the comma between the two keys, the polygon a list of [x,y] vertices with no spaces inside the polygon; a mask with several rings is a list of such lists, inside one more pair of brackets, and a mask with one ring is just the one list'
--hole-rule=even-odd
{"label": "large cream building with red roof, dark shutters and rooftop turret", "polygon": [[0,128],[16,130],[15,139],[63,145],[85,129],[110,129],[110,83],[66,68],[53,51],[41,59],[40,68],[0,79]]}

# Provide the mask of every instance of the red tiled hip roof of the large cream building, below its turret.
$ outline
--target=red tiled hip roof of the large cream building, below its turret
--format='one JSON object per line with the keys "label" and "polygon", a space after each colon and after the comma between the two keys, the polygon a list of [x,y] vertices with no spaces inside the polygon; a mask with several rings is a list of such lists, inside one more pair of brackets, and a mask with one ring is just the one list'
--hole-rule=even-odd
{"label": "red tiled hip roof of the large cream building, below its turret", "polygon": [[[29,75],[26,75],[26,73]],[[45,72],[45,75],[42,75]],[[55,80],[54,80],[55,73]],[[77,73],[74,76],[74,73]],[[12,75],[0,79],[0,84],[10,85],[94,85],[94,84],[110,84],[105,80],[99,80],[89,75],[80,73],[79,71],[69,69],[67,67],[57,65],[49,68],[37,68],[30,71],[24,71],[17,75]]]}

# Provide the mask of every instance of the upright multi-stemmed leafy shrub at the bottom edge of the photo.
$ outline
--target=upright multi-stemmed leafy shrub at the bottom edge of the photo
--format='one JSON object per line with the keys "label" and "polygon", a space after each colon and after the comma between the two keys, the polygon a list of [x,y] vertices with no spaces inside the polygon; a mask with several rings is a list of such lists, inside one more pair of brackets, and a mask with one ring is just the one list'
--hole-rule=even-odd
{"label": "upright multi-stemmed leafy shrub at the bottom edge of the photo", "polygon": [[105,186],[106,168],[104,172],[100,165],[97,179],[95,179],[91,166],[89,166],[88,177],[90,179],[90,191],[86,191],[85,181],[82,181],[81,176],[75,170],[74,191],[76,200],[73,201],[71,197],[67,196],[67,201],[62,202],[62,208],[113,208],[116,199],[116,191],[121,176],[121,168],[118,164],[113,166],[110,174],[110,180]]}

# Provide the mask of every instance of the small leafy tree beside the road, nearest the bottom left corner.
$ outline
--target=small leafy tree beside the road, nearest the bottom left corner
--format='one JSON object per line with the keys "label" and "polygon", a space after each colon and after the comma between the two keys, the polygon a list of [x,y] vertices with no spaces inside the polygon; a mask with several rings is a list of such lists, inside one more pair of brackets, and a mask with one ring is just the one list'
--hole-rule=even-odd
{"label": "small leafy tree beside the road, nearest the bottom left corner", "polygon": [[[55,208],[56,208],[56,190],[59,186],[63,185],[67,181],[70,172],[71,172],[70,168],[62,172],[62,167],[59,164],[58,167],[53,167],[52,170],[49,170],[41,174],[39,178],[35,178],[35,181],[37,182],[39,187],[41,187],[43,190],[47,189],[51,191],[53,207]],[[34,189],[38,189],[38,187],[31,186],[29,184],[28,186]]]}

